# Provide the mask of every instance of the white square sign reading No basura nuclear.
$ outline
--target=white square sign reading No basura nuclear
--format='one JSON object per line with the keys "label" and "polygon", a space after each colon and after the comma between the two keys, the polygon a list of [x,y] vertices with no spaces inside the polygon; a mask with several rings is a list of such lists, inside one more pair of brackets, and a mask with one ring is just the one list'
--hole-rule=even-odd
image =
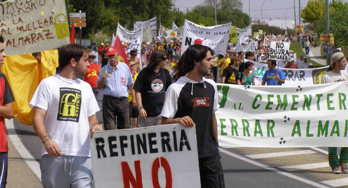
{"label": "white square sign reading No basura nuclear", "polygon": [[282,60],[287,62],[290,51],[290,42],[271,41],[269,59]]}

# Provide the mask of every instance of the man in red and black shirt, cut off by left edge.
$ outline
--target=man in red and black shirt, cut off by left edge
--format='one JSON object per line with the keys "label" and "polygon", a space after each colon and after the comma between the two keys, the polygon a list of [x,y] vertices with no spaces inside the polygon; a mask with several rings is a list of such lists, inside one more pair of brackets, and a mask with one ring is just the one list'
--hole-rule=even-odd
{"label": "man in red and black shirt, cut off by left edge", "polygon": [[[3,49],[5,39],[0,34],[0,68],[4,64],[6,57]],[[11,119],[13,116],[12,103],[15,101],[10,85],[8,84],[6,75],[0,72],[0,187],[6,187],[7,184],[7,137],[5,130],[5,118]]]}

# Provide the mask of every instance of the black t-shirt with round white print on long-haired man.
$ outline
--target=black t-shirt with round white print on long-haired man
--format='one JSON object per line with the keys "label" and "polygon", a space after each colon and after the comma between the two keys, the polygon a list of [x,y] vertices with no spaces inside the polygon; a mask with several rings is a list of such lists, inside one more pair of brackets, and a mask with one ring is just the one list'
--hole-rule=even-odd
{"label": "black t-shirt with round white print on long-haired man", "polygon": [[169,71],[161,68],[159,76],[150,68],[145,67],[136,77],[133,89],[141,93],[142,105],[147,116],[158,116],[163,108],[165,91],[172,84]]}

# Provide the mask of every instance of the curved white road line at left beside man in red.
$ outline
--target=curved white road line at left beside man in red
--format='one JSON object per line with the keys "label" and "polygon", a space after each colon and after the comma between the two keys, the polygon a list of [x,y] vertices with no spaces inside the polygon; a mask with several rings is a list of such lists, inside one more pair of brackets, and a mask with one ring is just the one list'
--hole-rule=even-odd
{"label": "curved white road line at left beside man in red", "polygon": [[5,125],[7,128],[8,137],[11,139],[19,155],[21,155],[22,158],[31,159],[31,160],[24,160],[24,161],[41,181],[40,163],[37,162],[35,158],[33,158],[33,156],[29,153],[29,151],[23,145],[21,139],[19,139],[18,134],[16,133],[16,130],[15,130],[15,127],[13,126],[13,119],[11,120],[5,119]]}

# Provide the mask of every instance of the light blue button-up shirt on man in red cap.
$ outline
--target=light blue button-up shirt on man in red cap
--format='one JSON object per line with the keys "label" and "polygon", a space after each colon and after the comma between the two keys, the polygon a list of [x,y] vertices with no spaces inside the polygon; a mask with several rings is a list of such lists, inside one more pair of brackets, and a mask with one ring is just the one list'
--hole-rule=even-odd
{"label": "light blue button-up shirt on man in red cap", "polygon": [[129,67],[122,62],[118,62],[115,70],[108,65],[104,66],[99,73],[97,84],[102,80],[102,75],[108,73],[104,81],[103,93],[113,97],[128,97],[128,86],[134,84]]}

